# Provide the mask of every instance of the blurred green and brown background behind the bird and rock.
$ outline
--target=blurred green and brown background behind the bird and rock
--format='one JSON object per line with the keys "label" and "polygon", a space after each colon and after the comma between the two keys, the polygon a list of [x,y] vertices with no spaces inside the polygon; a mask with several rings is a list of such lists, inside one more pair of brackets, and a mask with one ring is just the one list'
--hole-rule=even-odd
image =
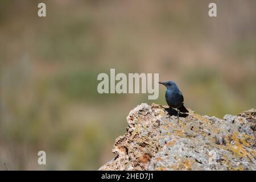
{"label": "blurred green and brown background behind the bird and rock", "polygon": [[174,80],[202,115],[255,107],[255,8],[254,0],[0,0],[0,169],[98,169],[112,159],[129,111],[166,102],[163,87],[158,100],[98,94],[97,75],[110,68]]}

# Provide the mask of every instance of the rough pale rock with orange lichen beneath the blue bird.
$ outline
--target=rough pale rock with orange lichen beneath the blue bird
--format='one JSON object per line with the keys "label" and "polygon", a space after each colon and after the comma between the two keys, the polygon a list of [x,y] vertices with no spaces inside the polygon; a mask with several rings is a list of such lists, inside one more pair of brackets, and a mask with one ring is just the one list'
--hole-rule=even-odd
{"label": "rough pale rock with orange lichen beneath the blue bird", "polygon": [[160,105],[138,105],[115,140],[117,156],[99,170],[256,170],[255,113],[219,119],[189,110],[177,122]]}

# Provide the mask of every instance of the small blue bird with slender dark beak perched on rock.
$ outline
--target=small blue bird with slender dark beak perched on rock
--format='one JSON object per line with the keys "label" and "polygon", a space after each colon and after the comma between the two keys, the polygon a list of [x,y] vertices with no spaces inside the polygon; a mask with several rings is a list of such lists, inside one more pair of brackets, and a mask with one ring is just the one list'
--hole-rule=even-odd
{"label": "small blue bird with slender dark beak perched on rock", "polygon": [[180,92],[180,89],[177,87],[174,81],[159,82],[159,84],[166,86],[166,102],[170,108],[177,109],[177,119],[179,121],[179,112],[189,112],[184,106],[183,94]]}

